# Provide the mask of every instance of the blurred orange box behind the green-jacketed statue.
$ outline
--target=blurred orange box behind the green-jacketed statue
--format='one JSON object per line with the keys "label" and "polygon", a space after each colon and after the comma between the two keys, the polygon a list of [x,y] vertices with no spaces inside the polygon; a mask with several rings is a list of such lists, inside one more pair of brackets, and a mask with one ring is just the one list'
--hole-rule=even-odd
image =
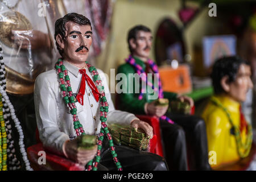
{"label": "blurred orange box behind the green-jacketed statue", "polygon": [[159,75],[165,92],[184,94],[192,91],[188,65],[179,65],[177,69],[169,65],[159,67]]}

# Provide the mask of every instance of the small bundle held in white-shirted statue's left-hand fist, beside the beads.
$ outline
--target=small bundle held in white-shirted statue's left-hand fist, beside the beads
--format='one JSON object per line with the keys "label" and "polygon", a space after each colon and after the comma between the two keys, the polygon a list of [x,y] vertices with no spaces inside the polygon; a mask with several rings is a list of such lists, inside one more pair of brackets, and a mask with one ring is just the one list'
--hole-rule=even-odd
{"label": "small bundle held in white-shirted statue's left-hand fist, beside the beads", "polygon": [[77,137],[78,148],[90,150],[95,145],[96,145],[96,137],[94,135],[80,135],[79,137]]}

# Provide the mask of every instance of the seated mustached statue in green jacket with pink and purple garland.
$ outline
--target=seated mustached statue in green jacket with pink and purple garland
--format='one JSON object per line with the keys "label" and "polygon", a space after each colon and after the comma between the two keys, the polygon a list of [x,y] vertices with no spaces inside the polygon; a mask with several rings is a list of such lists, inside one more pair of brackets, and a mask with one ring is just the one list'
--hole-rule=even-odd
{"label": "seated mustached statue in green jacket with pink and purple garland", "polygon": [[170,169],[187,170],[189,167],[192,170],[209,170],[204,120],[193,115],[167,111],[168,102],[164,98],[169,102],[187,102],[190,106],[193,106],[193,100],[176,93],[163,92],[158,67],[149,59],[151,30],[142,25],[131,28],[127,43],[131,55],[117,71],[126,75],[125,80],[121,79],[117,83],[121,89],[118,94],[118,109],[160,118],[164,158]]}

